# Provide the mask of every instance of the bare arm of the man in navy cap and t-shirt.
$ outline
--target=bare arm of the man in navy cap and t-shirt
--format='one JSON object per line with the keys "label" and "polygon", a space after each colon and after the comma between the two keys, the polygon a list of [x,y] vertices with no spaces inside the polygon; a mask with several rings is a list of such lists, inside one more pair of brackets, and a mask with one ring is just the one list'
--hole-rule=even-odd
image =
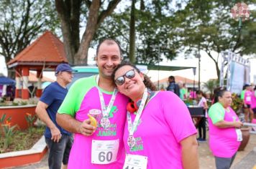
{"label": "bare arm of the man in navy cap and t-shirt", "polygon": [[50,128],[50,132],[52,134],[51,139],[54,142],[58,143],[61,137],[60,130],[58,129],[58,127],[56,127],[56,125],[52,122],[49,115],[47,114],[47,111],[46,111],[47,107],[48,105],[45,104],[45,102],[39,101],[37,103],[35,112],[37,113],[37,116],[40,118],[40,120],[42,120],[42,122],[45,122],[47,127]]}

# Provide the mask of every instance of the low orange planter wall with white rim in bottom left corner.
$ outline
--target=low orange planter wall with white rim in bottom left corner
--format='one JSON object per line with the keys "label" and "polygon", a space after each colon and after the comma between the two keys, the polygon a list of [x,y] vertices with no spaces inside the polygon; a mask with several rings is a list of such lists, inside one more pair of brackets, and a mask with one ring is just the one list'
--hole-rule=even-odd
{"label": "low orange planter wall with white rim in bottom left corner", "polygon": [[45,137],[40,140],[29,150],[22,150],[10,153],[0,154],[0,168],[11,168],[22,165],[38,163],[47,153]]}

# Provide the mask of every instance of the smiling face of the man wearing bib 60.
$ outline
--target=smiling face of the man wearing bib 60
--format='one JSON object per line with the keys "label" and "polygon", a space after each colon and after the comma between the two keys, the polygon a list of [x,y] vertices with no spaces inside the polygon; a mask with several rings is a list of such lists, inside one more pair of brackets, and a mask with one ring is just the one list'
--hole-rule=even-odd
{"label": "smiling face of the man wearing bib 60", "polygon": [[101,77],[111,79],[111,74],[118,64],[121,63],[119,47],[116,43],[103,42],[99,47],[96,63]]}

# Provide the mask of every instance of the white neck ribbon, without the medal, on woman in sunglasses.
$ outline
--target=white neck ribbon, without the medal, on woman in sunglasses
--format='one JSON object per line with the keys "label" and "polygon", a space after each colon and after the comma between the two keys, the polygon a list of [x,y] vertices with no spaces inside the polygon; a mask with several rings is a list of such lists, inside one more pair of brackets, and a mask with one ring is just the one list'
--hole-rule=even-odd
{"label": "white neck ribbon, without the medal, on woman in sunglasses", "polygon": [[129,111],[127,111],[127,122],[128,122],[129,135],[133,135],[133,133],[134,133],[134,130],[140,120],[140,116],[142,115],[142,110],[145,107],[146,100],[147,100],[147,88],[145,88],[145,90],[144,90],[142,102],[140,103],[139,110],[137,110],[137,115],[135,116],[134,122],[132,122],[131,113]]}

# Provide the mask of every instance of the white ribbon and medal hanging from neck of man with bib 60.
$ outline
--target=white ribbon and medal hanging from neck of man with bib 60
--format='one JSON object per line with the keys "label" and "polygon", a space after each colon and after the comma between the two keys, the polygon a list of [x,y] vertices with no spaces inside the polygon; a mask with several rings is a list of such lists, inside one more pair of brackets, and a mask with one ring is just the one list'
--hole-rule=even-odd
{"label": "white ribbon and medal hanging from neck of man with bib 60", "polygon": [[[96,77],[96,82],[99,86],[99,75]],[[101,101],[101,110],[102,110],[102,115],[103,115],[103,117],[101,118],[101,126],[106,128],[106,127],[109,127],[109,125],[110,125],[109,112],[111,110],[111,107],[114,104],[114,100],[116,99],[117,90],[116,90],[116,88],[114,88],[114,92],[111,96],[111,100],[109,101],[109,105],[107,108],[106,108],[106,105],[104,102],[103,94],[102,94],[101,90],[99,89],[99,87],[98,87],[98,91],[99,91],[99,100]]]}

